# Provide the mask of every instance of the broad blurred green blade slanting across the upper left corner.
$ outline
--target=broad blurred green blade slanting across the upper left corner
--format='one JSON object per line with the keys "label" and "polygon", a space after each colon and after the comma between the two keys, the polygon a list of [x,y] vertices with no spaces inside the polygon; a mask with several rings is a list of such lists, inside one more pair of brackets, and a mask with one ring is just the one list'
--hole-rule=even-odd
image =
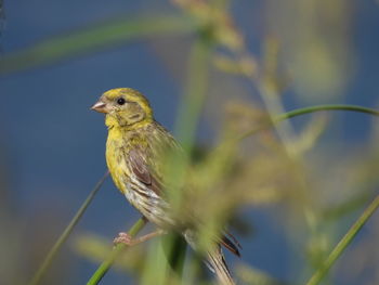
{"label": "broad blurred green blade slanting across the upper left corner", "polygon": [[0,59],[0,75],[52,64],[74,56],[113,49],[130,41],[164,35],[183,35],[196,27],[182,15],[125,15],[49,38]]}

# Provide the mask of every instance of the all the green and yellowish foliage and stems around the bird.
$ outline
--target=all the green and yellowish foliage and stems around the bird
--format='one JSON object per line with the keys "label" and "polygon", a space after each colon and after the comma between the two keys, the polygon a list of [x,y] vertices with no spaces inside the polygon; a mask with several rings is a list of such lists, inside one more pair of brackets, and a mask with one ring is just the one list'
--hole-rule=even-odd
{"label": "all the green and yellowish foliage and stems around the bird", "polygon": [[[232,267],[236,269],[236,277],[243,284],[303,284],[305,280],[309,280],[309,285],[319,284],[328,277],[329,270],[351,245],[379,203],[373,191],[373,185],[378,183],[376,143],[374,146],[365,145],[366,150],[362,151],[364,157],[360,158],[354,157],[354,150],[351,148],[347,148],[343,158],[336,156],[334,150],[321,148],[317,143],[328,131],[330,122],[326,111],[358,112],[374,116],[379,116],[379,112],[344,104],[312,105],[285,112],[283,96],[290,88],[298,93],[300,90],[297,95],[312,103],[318,102],[319,98],[325,99],[322,102],[327,102],[324,93],[343,93],[348,75],[332,59],[337,56],[339,48],[344,47],[347,39],[342,36],[332,37],[332,31],[325,36],[322,33],[324,25],[313,22],[318,17],[314,11],[321,10],[318,1],[308,1],[308,7],[293,0],[284,8],[286,13],[291,13],[289,8],[296,7],[310,15],[299,20],[306,25],[292,26],[297,30],[296,39],[300,39],[299,44],[293,46],[288,39],[284,40],[282,35],[264,36],[261,54],[257,55],[248,50],[244,34],[235,24],[230,1],[172,2],[177,8],[172,15],[109,20],[8,54],[0,60],[0,74],[83,56],[140,39],[191,35],[190,40],[193,42],[190,52],[183,56],[187,73],[175,134],[190,157],[197,150],[195,137],[201,115],[217,113],[214,129],[218,139],[215,146],[202,151],[196,159],[175,160],[178,158],[172,157],[173,160],[169,160],[174,161],[168,168],[173,173],[169,178],[173,184],[178,187],[192,185],[192,191],[169,193],[175,215],[190,222],[185,210],[186,205],[191,205],[192,210],[201,217],[202,223],[196,225],[201,254],[225,224],[236,220],[241,209],[277,208],[275,213],[280,213],[278,222],[286,224],[284,234],[293,247],[300,248],[306,259],[305,264],[296,269],[299,280],[277,281],[269,273],[241,262]],[[267,5],[267,10],[276,5],[283,8],[276,1],[269,1]],[[334,29],[342,29],[339,25],[347,21],[345,15],[338,12],[344,5],[342,1],[337,1],[336,7],[330,8],[328,20],[338,22]],[[295,24],[293,21],[290,23]],[[328,44],[330,37],[336,40]],[[310,42],[314,44],[310,46]],[[156,50],[161,59],[169,59],[167,65],[178,64],[167,56],[167,52],[172,50],[166,51],[159,46]],[[345,59],[350,52],[347,49],[338,56]],[[290,67],[286,60],[289,60]],[[317,68],[309,68],[316,65]],[[183,66],[180,67],[183,69]],[[312,69],[312,73],[304,73],[304,67]],[[253,106],[250,106],[252,96],[249,96],[248,102],[239,102],[237,94],[245,92],[240,88],[243,80],[257,91],[261,103],[253,102]],[[222,100],[222,95],[231,93],[228,99],[232,100]],[[324,95],[319,96],[321,93]],[[223,106],[226,106],[224,111]],[[302,131],[295,130],[289,119],[311,113],[317,113],[318,116],[312,117]],[[374,129],[373,133],[376,135],[377,131]],[[343,181],[336,181],[335,173],[323,171],[326,167],[332,169],[331,166],[349,174],[344,173]],[[82,217],[103,180],[57,239],[30,284],[40,284],[54,256]],[[369,200],[373,200],[371,204],[363,210],[363,205]],[[350,230],[342,226],[342,219],[356,216],[357,211],[363,213]],[[140,219],[129,233],[136,235],[145,223],[144,219]],[[330,230],[330,224],[339,228],[338,232]],[[370,226],[377,228],[376,224]],[[347,234],[337,242],[341,231]],[[375,247],[368,244],[367,249],[365,241],[361,243],[363,245],[357,245],[360,255]],[[151,284],[152,281],[156,284],[194,284],[193,281],[206,280],[197,268],[198,258],[185,259],[186,246],[178,236],[166,237],[162,243],[160,239],[154,241],[146,246],[147,249],[134,252],[125,250],[125,245],[117,245],[107,254],[109,248],[100,237],[83,235],[79,236],[74,248],[84,258],[102,261],[94,274],[89,276],[89,285],[99,284],[113,264],[119,270],[132,272],[141,284]],[[155,265],[157,260],[159,267]],[[353,264],[354,260],[345,262]],[[343,272],[336,274],[341,275]],[[332,280],[332,276],[329,278]]]}

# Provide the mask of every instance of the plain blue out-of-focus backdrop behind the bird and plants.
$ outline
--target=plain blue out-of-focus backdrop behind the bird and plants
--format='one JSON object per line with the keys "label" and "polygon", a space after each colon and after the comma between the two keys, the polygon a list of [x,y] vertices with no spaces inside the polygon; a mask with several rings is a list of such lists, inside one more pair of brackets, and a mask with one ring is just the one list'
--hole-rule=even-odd
{"label": "plain blue out-of-focus backdrop behind the bird and plants", "polygon": [[[262,1],[252,2],[237,1],[233,12],[238,16],[238,25],[249,31],[246,35],[249,48],[258,51],[260,39],[251,23],[259,18],[251,22],[250,11],[256,9],[253,14],[259,15]],[[249,9],[244,9],[245,4]],[[156,7],[174,11],[164,1]],[[89,23],[141,11],[151,11],[148,1],[5,0],[2,54]],[[355,1],[354,15],[350,33],[358,65],[339,103],[375,106],[379,91],[379,7],[375,1]],[[18,262],[25,276],[30,276],[39,263],[34,258],[41,258],[50,248],[106,170],[104,117],[89,107],[102,92],[116,87],[142,91],[149,98],[157,120],[168,129],[173,128],[183,87],[148,41],[0,78],[0,164],[6,173],[1,197],[14,221],[6,226],[16,228],[21,239],[27,241],[19,245],[25,250],[21,256],[25,257]],[[288,109],[299,107],[298,104],[291,95],[285,99]],[[341,116],[344,143],[358,145],[367,139],[367,117]],[[211,140],[207,131],[200,132],[198,139],[205,144]],[[288,245],[283,234],[285,224],[275,221],[275,210],[256,209],[247,215],[257,233],[253,237],[240,237],[243,260],[280,280],[296,275],[288,260],[297,263],[302,257]],[[107,180],[75,233],[94,232],[112,243],[116,233],[138,218],[138,212]],[[68,278],[73,278],[71,284],[83,284],[96,264],[70,254],[69,246],[65,248],[68,250],[63,250],[60,259],[75,272]],[[115,271],[104,280],[104,284],[123,282],[125,275]]]}

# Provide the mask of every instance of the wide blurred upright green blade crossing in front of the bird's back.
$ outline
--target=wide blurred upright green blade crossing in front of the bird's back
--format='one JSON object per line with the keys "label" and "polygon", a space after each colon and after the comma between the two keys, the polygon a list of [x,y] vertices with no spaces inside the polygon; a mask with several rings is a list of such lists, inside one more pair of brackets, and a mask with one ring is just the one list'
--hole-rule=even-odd
{"label": "wide blurred upright green blade crossing in front of the bird's back", "polygon": [[[169,154],[169,160],[165,166],[167,169],[164,171],[164,173],[170,173],[168,178],[165,178],[165,184],[172,185],[167,190],[167,196],[170,205],[173,206],[173,217],[178,217],[186,204],[182,189],[187,182],[185,173],[191,163],[187,158],[191,157],[195,145],[199,114],[208,89],[209,55],[212,51],[213,38],[209,26],[201,26],[197,33],[198,39],[192,44],[187,57],[187,82],[175,126],[175,137],[186,155]],[[183,237],[174,233],[162,238],[164,250],[149,247],[148,256],[152,256],[152,259],[146,262],[141,284],[152,284],[157,281],[160,281],[158,284],[179,284],[182,280],[186,243]],[[156,268],[157,260],[160,260],[160,270]]]}

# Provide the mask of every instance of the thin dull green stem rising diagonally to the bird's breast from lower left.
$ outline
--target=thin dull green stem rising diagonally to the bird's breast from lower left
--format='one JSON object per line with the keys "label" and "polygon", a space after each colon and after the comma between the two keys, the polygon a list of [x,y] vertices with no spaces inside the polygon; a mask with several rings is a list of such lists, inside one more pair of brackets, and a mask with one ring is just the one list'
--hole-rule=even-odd
{"label": "thin dull green stem rising diagonally to the bird's breast from lower left", "polygon": [[108,177],[109,172],[106,171],[106,173],[103,176],[103,178],[96,183],[94,189],[91,191],[91,193],[88,195],[83,204],[80,206],[79,210],[74,216],[73,220],[69,222],[69,224],[66,226],[66,229],[61,234],[60,238],[55,242],[53,247],[50,249],[49,254],[44,258],[42,264],[36,272],[36,274],[32,276],[31,281],[28,283],[29,285],[37,285],[41,282],[41,278],[44,274],[44,272],[49,269],[49,267],[52,263],[52,260],[54,259],[57,251],[61,249],[62,245],[66,242],[69,234],[73,232],[75,225],[79,222],[80,218],[83,216],[84,211],[87,210],[88,206],[103,185],[105,179]]}

